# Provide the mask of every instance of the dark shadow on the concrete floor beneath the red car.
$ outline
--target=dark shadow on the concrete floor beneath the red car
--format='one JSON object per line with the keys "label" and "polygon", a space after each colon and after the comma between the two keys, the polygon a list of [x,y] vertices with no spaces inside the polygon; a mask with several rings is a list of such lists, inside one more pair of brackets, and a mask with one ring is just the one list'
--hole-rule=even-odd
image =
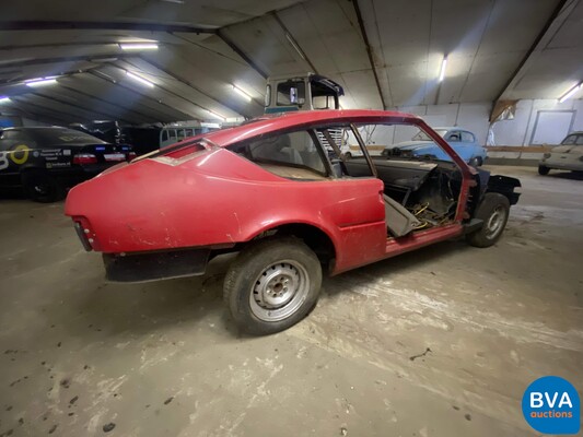
{"label": "dark shadow on the concrete floor beneath the red car", "polygon": [[[427,269],[436,258],[473,248],[460,240],[436,244],[393,259],[370,264],[341,275],[324,276],[323,286],[328,295],[343,293],[334,284],[345,279],[362,282],[363,276],[386,276]],[[74,297],[67,306],[55,307],[57,314],[50,316],[72,335],[93,339],[100,333],[116,335],[121,333],[145,334],[163,327],[178,323],[197,323],[201,320],[215,320],[233,336],[241,336],[230,319],[222,298],[224,275],[234,255],[221,256],[209,264],[203,276],[156,281],[143,284],[106,283],[103,280],[92,286],[86,284],[75,290]],[[345,288],[346,290],[346,288]],[[47,315],[48,316],[48,315]]]}

